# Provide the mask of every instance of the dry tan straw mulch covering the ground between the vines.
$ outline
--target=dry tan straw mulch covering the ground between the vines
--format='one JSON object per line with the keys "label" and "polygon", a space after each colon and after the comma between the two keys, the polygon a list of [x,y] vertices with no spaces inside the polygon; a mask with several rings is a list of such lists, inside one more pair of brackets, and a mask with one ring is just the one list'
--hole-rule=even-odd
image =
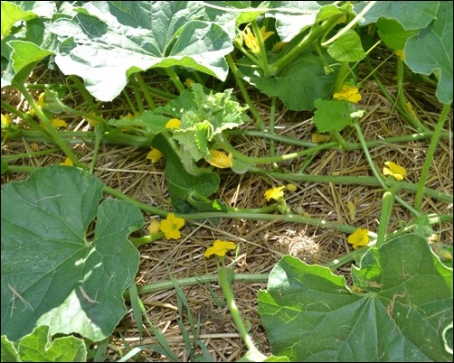
{"label": "dry tan straw mulch covering the ground between the vines", "polygon": [[[54,82],[61,77],[56,72],[46,70],[39,77]],[[36,76],[36,81],[39,79]],[[156,82],[158,80],[151,80]],[[395,84],[390,80],[391,85]],[[440,116],[440,103],[434,97],[431,88],[413,87],[406,84],[407,97],[411,98],[415,111],[429,129],[434,129]],[[395,87],[388,90],[395,96]],[[366,110],[367,117],[362,121],[362,130],[366,140],[376,140],[395,135],[409,135],[411,127],[402,120],[394,110],[393,105],[383,97],[374,81],[369,81],[361,88],[363,99],[360,107]],[[237,95],[241,99],[241,95]],[[76,97],[76,95],[73,95]],[[2,98],[26,110],[27,105],[14,93],[5,88]],[[80,98],[81,99],[81,98]],[[74,100],[74,98],[73,98]],[[75,99],[76,104],[78,98]],[[264,95],[255,95],[265,122],[269,118],[270,100]],[[80,105],[84,107],[84,105]],[[122,116],[128,113],[126,102],[121,98],[104,105],[103,116]],[[86,120],[73,117],[66,119],[71,130],[90,129]],[[251,126],[251,125],[250,125]],[[291,112],[279,107],[276,117],[276,129],[281,135],[297,137],[301,140],[311,140],[316,132],[310,121],[310,115],[301,112]],[[248,127],[248,126],[245,126]],[[445,124],[445,131],[452,133],[452,114]],[[355,140],[352,130],[345,129],[346,139]],[[382,144],[370,150],[374,163],[381,170],[383,163],[393,161],[406,167],[406,181],[417,183],[421,173],[422,163],[430,140],[414,141],[407,144]],[[442,139],[433,158],[427,187],[452,194],[452,140]],[[237,137],[233,140],[237,149],[244,154],[260,156],[268,155],[270,144],[260,138]],[[38,144],[40,150],[51,147]],[[277,154],[288,154],[298,151],[295,146],[276,144]],[[36,148],[27,140],[7,141],[2,145],[2,153],[19,154]],[[80,160],[90,163],[93,145],[74,145]],[[128,196],[142,202],[171,210],[170,200],[166,191],[164,179],[165,162],[151,164],[146,159],[148,150],[118,145],[101,146],[95,174],[106,185],[116,188]],[[45,166],[61,163],[62,154],[51,154],[43,157],[22,158],[16,164]],[[298,171],[304,159],[280,163],[279,168],[286,171]],[[360,150],[342,152],[330,150],[318,154],[306,169],[313,175],[372,175],[364,153]],[[26,174],[5,174],[2,184],[8,181],[24,180]],[[269,188],[285,185],[285,182],[250,173],[234,174],[222,171],[222,186],[217,197],[232,207],[258,208],[265,204],[263,193]],[[297,191],[288,192],[288,206],[299,213],[307,213],[312,217],[349,224],[355,227],[368,228],[376,231],[381,210],[383,191],[358,185],[335,185],[299,183]],[[414,194],[402,193],[401,197],[409,204],[413,203]],[[347,209],[347,201],[355,205],[355,215]],[[451,214],[452,205],[438,200],[425,198],[422,209],[428,213]],[[146,225],[141,231],[147,234],[147,226],[156,216],[144,215]],[[389,230],[410,222],[411,214],[399,203],[394,204],[393,217]],[[440,241],[452,244],[452,226],[434,226],[440,233]],[[327,230],[321,227],[290,224],[283,222],[260,222],[251,220],[203,220],[189,222],[182,230],[182,238],[175,240],[162,239],[149,246],[139,247],[140,265],[137,274],[137,284],[152,284],[168,281],[171,277],[181,278],[196,275],[213,274],[217,265],[215,258],[206,259],[203,252],[215,239],[227,239],[239,244],[240,256],[235,270],[241,274],[269,273],[272,267],[285,254],[298,256],[309,264],[326,264],[338,256],[351,251],[344,233]],[[226,258],[226,264],[232,263],[232,256]],[[337,271],[338,274],[349,277],[349,266]],[[211,289],[222,301],[222,292],[218,284],[211,284]],[[258,348],[265,354],[270,353],[270,345],[265,332],[260,325],[257,312],[257,293],[265,289],[266,284],[233,284],[236,302],[245,320],[251,322],[251,336]],[[191,305],[194,316],[200,316],[201,334],[197,338],[203,340],[212,354],[213,361],[234,361],[245,353],[244,345],[235,330],[235,325],[226,308],[216,305],[209,289],[203,284],[183,287],[185,296]],[[177,324],[177,300],[175,289],[148,293],[141,296],[147,309],[147,316],[161,330],[179,360],[187,359],[181,331]],[[187,317],[183,317],[186,328],[190,331]],[[146,324],[147,325],[147,324]],[[154,344],[156,339],[148,327],[140,340],[136,321],[131,310],[118,325],[116,332],[110,337],[107,349],[108,360],[118,360],[122,355],[139,344]],[[141,361],[166,361],[166,358],[152,350],[141,353]],[[132,361],[132,360],[131,360]]]}

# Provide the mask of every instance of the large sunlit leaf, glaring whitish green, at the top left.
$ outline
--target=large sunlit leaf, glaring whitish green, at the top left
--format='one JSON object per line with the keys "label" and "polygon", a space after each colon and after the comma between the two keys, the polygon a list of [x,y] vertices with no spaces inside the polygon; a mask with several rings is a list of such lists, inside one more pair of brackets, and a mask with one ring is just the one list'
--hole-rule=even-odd
{"label": "large sunlit leaf, glaring whitish green, at the top left", "polygon": [[224,56],[233,50],[232,40],[218,24],[198,20],[198,2],[92,1],[79,11],[52,23],[62,41],[55,61],[102,101],[118,96],[131,73],[154,67],[227,77]]}

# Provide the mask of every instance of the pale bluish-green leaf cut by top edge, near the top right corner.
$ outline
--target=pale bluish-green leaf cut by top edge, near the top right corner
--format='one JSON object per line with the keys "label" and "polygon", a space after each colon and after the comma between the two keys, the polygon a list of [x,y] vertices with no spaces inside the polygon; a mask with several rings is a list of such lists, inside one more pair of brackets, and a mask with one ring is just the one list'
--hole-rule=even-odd
{"label": "pale bluish-green leaf cut by top edge, near the top right corner", "polygon": [[[441,2],[443,3],[443,2]],[[448,2],[450,3],[450,2]],[[355,13],[364,9],[367,2],[354,5]],[[378,19],[393,19],[402,24],[406,31],[425,28],[436,18],[440,1],[377,1],[359,21],[360,25],[376,23]]]}

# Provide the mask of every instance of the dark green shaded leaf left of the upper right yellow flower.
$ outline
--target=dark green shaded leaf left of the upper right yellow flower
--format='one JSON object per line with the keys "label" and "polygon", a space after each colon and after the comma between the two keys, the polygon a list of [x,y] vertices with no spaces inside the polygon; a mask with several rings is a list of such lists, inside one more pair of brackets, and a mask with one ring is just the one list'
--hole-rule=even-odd
{"label": "dark green shaded leaf left of the upper right yellow flower", "polygon": [[[328,59],[328,63],[334,62]],[[312,111],[315,109],[314,100],[331,98],[338,70],[326,74],[325,63],[310,52],[304,52],[298,59],[283,70],[278,77],[266,78],[251,70],[247,61],[239,67],[243,78],[259,88],[267,96],[277,96],[288,109],[293,111]]]}

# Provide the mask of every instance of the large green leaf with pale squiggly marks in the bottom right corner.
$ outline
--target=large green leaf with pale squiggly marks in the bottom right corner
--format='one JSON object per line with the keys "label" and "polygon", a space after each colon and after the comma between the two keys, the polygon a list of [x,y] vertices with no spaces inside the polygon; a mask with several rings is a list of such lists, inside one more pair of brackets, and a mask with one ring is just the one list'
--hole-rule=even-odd
{"label": "large green leaf with pale squiggly marks in the bottom right corner", "polygon": [[272,353],[291,361],[452,361],[444,333],[452,269],[424,238],[371,248],[352,275],[362,293],[326,267],[284,256],[259,293]]}

